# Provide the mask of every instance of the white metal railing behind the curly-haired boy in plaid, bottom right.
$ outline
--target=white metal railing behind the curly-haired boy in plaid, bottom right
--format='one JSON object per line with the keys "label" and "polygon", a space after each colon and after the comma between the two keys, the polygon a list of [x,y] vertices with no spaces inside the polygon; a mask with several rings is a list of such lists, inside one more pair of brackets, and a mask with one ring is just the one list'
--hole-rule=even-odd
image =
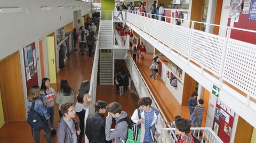
{"label": "white metal railing behind the curly-haired boy in plaid, bottom right", "polygon": [[[162,128],[162,140],[165,143],[172,142],[173,137],[176,137],[175,128]],[[217,136],[211,128],[190,128],[191,134],[196,137],[201,143],[210,142],[210,143],[223,143],[223,141]],[[201,133],[202,133],[202,136]],[[175,140],[177,141],[177,140]]]}

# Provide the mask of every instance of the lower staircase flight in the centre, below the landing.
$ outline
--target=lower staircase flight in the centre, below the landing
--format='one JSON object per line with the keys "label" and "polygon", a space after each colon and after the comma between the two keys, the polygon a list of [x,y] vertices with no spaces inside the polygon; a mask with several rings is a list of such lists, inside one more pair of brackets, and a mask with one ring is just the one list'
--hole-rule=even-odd
{"label": "lower staircase flight in the centre, below the landing", "polygon": [[100,85],[113,85],[111,49],[100,49]]}

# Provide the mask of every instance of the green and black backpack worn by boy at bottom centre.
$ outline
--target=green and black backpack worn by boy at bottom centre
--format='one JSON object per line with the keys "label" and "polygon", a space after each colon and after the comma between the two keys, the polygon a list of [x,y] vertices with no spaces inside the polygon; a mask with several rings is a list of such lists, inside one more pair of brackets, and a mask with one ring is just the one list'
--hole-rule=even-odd
{"label": "green and black backpack worn by boy at bottom centre", "polygon": [[138,125],[135,124],[128,116],[120,119],[116,124],[120,122],[126,122],[128,126],[126,143],[140,143],[141,130],[138,128]]}

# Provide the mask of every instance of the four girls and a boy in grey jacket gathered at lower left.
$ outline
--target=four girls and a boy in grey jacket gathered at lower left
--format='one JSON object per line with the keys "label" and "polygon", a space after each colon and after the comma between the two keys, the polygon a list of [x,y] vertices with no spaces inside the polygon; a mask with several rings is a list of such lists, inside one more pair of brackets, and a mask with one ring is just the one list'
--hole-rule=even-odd
{"label": "four girls and a boy in grey jacket gathered at lower left", "polygon": [[[55,90],[50,86],[50,79],[43,78],[41,88],[37,85],[31,86],[28,92],[28,108],[34,110],[42,120],[47,143],[51,142],[51,137],[57,134],[57,142],[82,142],[84,135],[84,117],[86,109],[89,108],[91,96],[90,81],[83,81],[77,92],[77,102],[74,106],[74,90],[69,86],[66,79],[61,80],[60,90]],[[60,121],[57,131],[54,130],[54,98],[47,99],[45,96],[56,94],[55,102],[59,104]],[[72,120],[77,115],[79,123]],[[31,127],[33,128],[33,127]],[[34,128],[34,140],[39,142],[39,133],[42,129]]]}

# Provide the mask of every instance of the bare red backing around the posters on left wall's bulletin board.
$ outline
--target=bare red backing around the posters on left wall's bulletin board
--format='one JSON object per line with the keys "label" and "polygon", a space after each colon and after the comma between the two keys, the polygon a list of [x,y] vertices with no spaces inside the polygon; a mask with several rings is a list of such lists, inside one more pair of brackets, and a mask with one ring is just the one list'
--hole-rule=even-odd
{"label": "bare red backing around the posters on left wall's bulletin board", "polygon": [[[34,51],[34,50],[36,50],[36,46],[35,46],[35,43],[32,43],[32,44],[30,44],[31,45],[31,47],[32,47],[32,51]],[[28,46],[30,46],[30,45],[28,45]],[[28,46],[26,46],[26,47],[28,47]],[[24,65],[25,65],[25,75],[26,75],[26,86],[27,86],[27,92],[28,92],[28,90],[29,90],[29,88],[31,87],[31,86],[33,86],[33,85],[38,85],[38,78],[37,78],[37,72],[35,72],[34,73],[34,76],[33,77],[31,77],[31,79],[29,79],[29,80],[27,80],[27,73],[26,73],[26,67],[27,66],[29,66],[29,65],[27,65],[26,66],[26,63],[25,63],[25,50],[24,50],[24,48],[23,48],[23,62],[24,62]],[[28,55],[28,54],[27,54]],[[36,61],[36,59],[35,59],[35,61]],[[29,64],[29,63],[28,63]],[[33,58],[33,65],[34,65],[34,58]],[[36,64],[37,65],[37,64]],[[36,71],[38,71],[38,69],[37,69],[37,67],[35,67],[36,68]]]}

